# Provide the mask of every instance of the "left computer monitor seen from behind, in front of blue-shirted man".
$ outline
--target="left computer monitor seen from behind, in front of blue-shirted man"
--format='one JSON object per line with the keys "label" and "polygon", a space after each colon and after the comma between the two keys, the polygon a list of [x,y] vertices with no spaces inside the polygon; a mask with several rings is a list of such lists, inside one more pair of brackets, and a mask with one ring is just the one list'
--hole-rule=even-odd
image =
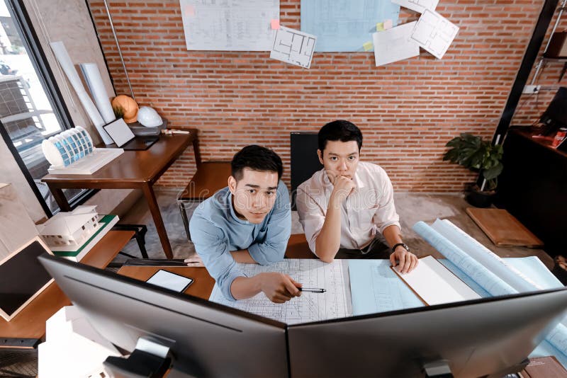
{"label": "left computer monitor seen from behind, in front of blue-shirted man", "polygon": [[286,325],[64,258],[40,256],[57,285],[114,345],[150,336],[172,377],[288,377]]}

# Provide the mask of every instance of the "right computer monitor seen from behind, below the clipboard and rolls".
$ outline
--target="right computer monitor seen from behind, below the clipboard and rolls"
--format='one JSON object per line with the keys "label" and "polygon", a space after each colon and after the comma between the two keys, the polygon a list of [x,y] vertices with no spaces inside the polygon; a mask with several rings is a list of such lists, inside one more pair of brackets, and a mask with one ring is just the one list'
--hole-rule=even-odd
{"label": "right computer monitor seen from behind, below the clipboard and rolls", "polygon": [[[561,321],[567,290],[420,307],[288,327],[291,377],[504,377]],[[332,356],[332,357],[331,357]]]}

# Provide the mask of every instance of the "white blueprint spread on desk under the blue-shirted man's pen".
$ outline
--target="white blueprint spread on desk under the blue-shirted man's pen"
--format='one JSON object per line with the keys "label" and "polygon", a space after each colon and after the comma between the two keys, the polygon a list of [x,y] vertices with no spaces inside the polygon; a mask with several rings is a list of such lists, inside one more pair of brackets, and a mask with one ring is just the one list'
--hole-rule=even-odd
{"label": "white blueprint spread on desk under the blue-shirted man's pen", "polygon": [[336,319],[352,314],[348,287],[348,270],[342,260],[330,264],[315,259],[286,258],[272,265],[238,264],[248,277],[262,272],[279,272],[290,275],[303,287],[318,287],[325,293],[303,292],[301,297],[277,304],[271,302],[263,292],[255,297],[231,302],[223,297],[217,285],[213,287],[209,300],[251,312],[288,324],[306,323],[325,319]]}

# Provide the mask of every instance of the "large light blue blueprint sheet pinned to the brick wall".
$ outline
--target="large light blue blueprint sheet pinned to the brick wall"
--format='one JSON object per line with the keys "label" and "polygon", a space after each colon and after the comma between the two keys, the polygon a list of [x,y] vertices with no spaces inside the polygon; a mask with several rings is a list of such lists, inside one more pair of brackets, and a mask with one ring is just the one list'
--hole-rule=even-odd
{"label": "large light blue blueprint sheet pinned to the brick wall", "polygon": [[376,23],[398,25],[399,14],[390,0],[301,0],[301,31],[317,35],[317,52],[364,51]]}

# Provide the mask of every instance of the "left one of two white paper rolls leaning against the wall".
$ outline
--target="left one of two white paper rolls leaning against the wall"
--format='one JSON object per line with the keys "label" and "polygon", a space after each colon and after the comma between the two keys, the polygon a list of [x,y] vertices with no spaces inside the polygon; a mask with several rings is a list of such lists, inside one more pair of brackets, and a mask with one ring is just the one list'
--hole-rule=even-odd
{"label": "left one of two white paper rolls leaning against the wall", "polygon": [[99,110],[96,109],[96,106],[89,97],[89,94],[84,90],[81,79],[79,79],[79,74],[77,74],[73,62],[71,61],[71,57],[69,57],[69,53],[67,53],[63,42],[51,42],[50,45],[51,50],[53,50],[53,54],[57,57],[57,61],[59,61],[59,64],[67,75],[73,89],[77,92],[77,96],[79,96],[79,100],[81,101],[84,110],[86,110],[86,114],[89,115],[89,118],[91,118],[91,121],[93,122],[94,127],[96,127],[96,131],[98,131],[101,135],[104,144],[113,143],[110,135],[108,135],[108,133],[102,128],[105,122],[101,117]]}

